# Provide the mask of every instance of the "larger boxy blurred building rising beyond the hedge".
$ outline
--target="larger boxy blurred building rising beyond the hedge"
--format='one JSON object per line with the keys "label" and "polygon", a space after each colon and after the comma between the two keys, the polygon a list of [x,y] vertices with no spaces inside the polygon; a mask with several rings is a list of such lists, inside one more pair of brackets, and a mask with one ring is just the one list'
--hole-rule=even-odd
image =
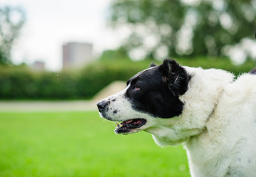
{"label": "larger boxy blurred building rising beyond the hedge", "polygon": [[92,44],[67,43],[62,46],[63,69],[85,66],[92,61]]}

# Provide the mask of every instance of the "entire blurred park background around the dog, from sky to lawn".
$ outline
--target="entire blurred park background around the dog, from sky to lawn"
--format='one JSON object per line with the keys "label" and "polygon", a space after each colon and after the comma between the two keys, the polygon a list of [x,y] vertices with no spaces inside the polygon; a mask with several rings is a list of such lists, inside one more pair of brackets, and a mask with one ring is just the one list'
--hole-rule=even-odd
{"label": "entire blurred park background around the dog, from sky to lawn", "polygon": [[189,176],[95,103],[165,58],[249,72],[255,32],[256,0],[0,0],[0,176]]}

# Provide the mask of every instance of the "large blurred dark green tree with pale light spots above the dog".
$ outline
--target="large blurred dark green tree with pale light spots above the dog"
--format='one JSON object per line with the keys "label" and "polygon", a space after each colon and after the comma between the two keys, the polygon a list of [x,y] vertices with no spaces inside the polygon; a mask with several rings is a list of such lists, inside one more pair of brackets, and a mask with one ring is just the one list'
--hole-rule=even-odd
{"label": "large blurred dark green tree with pale light spots above the dog", "polygon": [[225,46],[254,38],[256,0],[115,0],[112,27],[127,27],[122,44],[131,57],[225,53]]}

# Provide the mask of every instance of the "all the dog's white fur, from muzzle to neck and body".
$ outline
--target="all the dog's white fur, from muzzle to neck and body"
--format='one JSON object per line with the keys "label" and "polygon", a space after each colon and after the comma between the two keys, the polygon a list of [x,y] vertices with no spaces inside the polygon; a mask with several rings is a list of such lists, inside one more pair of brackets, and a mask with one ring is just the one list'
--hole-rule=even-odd
{"label": "all the dog's white fur, from muzzle to neck and body", "polygon": [[[132,131],[152,133],[160,146],[183,143],[192,176],[256,176],[256,75],[234,75],[220,69],[184,67],[192,78],[180,97],[179,117],[161,119],[132,109],[124,91],[108,97],[112,120],[147,120]],[[128,86],[129,87],[129,86]],[[127,88],[128,88],[127,87]]]}

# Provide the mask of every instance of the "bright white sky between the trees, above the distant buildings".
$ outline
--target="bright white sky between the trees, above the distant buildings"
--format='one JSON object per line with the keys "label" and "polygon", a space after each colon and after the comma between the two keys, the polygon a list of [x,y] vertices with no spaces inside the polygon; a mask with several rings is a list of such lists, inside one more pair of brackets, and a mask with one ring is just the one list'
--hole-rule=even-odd
{"label": "bright white sky between the trees, above the distant buildings", "polygon": [[47,69],[62,67],[62,44],[77,41],[93,44],[95,56],[115,49],[121,34],[107,27],[110,0],[0,0],[0,6],[21,6],[27,22],[13,48],[14,63],[41,60]]}

